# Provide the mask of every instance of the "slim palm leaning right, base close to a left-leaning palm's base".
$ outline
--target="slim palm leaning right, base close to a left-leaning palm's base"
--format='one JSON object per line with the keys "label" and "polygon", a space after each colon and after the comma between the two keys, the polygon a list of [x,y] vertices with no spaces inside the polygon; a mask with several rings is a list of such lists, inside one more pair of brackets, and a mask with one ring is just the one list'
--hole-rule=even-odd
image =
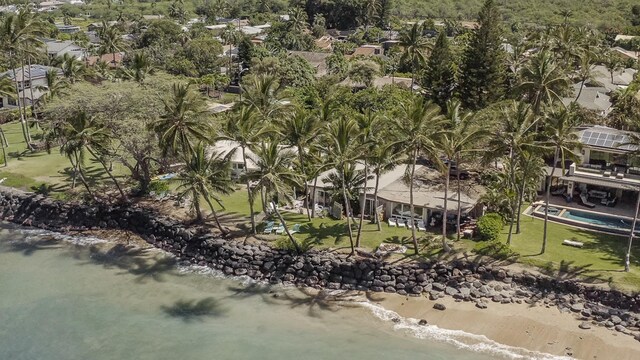
{"label": "slim palm leaning right, base close to a left-leaning palm's base", "polygon": [[378,113],[369,109],[364,114],[359,114],[356,117],[356,121],[358,122],[358,128],[360,129],[360,137],[358,141],[365,149],[362,155],[365,183],[362,187],[362,195],[360,199],[360,223],[358,225],[358,235],[356,236],[356,247],[360,247],[362,223],[364,222],[364,208],[367,201],[367,181],[369,179],[369,166],[371,164],[370,156],[375,153],[377,148],[380,146],[379,140],[382,131],[382,118]]}

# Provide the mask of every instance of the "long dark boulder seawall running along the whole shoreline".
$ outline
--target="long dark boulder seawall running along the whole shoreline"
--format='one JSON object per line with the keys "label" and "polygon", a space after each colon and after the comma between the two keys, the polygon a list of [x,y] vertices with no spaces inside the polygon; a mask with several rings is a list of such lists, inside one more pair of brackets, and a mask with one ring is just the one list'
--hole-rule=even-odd
{"label": "long dark boulder seawall running along the whole shoreline", "polygon": [[573,280],[466,260],[395,265],[327,251],[296,255],[266,244],[229,242],[147,209],[64,203],[2,186],[0,218],[62,232],[131,231],[182,262],[271,283],[426,296],[432,300],[450,296],[474,302],[480,309],[491,303],[556,306],[562,312],[574,313],[582,321],[582,329],[604,326],[640,341],[640,294],[599,289]]}

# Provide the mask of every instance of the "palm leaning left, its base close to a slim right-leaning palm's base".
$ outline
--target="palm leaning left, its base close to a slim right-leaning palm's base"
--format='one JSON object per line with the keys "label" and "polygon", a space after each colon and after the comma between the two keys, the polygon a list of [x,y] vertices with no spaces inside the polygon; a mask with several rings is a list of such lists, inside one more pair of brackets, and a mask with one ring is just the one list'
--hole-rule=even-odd
{"label": "palm leaning left, its base close to a slim right-leaning palm's base", "polygon": [[355,253],[353,243],[353,231],[351,229],[351,206],[347,189],[345,187],[345,171],[347,165],[352,164],[362,155],[362,147],[357,141],[359,136],[358,123],[352,118],[341,116],[335,121],[327,124],[325,136],[321,141],[322,151],[327,156],[327,164],[332,166],[342,183],[342,197],[347,216],[347,230],[349,233],[349,243],[351,245],[351,255]]}

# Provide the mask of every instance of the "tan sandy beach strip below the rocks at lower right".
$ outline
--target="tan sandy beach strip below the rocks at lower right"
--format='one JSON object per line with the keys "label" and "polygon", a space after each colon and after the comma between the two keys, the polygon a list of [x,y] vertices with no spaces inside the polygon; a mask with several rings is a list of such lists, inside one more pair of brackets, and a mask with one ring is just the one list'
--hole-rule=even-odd
{"label": "tan sandy beach strip below the rocks at lower right", "polygon": [[[440,328],[484,335],[513,347],[577,359],[640,359],[640,342],[632,336],[595,325],[580,329],[576,315],[555,307],[489,303],[481,310],[449,297],[431,301],[391,294],[373,294],[370,301],[405,318],[425,319]],[[436,302],[447,309],[434,309]]]}

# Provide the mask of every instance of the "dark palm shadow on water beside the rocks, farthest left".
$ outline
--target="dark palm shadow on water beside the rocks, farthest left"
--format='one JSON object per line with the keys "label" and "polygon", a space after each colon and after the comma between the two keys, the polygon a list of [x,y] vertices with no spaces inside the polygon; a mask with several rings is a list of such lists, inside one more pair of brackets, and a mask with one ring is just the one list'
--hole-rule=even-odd
{"label": "dark palm shadow on water beside the rocks, farthest left", "polygon": [[135,281],[144,283],[148,279],[157,282],[165,280],[165,274],[182,276],[176,271],[177,260],[174,257],[151,252],[135,246],[117,244],[109,249],[98,246],[77,245],[70,250],[70,254],[79,265],[100,265],[105,269],[123,270],[119,274],[135,276]]}

